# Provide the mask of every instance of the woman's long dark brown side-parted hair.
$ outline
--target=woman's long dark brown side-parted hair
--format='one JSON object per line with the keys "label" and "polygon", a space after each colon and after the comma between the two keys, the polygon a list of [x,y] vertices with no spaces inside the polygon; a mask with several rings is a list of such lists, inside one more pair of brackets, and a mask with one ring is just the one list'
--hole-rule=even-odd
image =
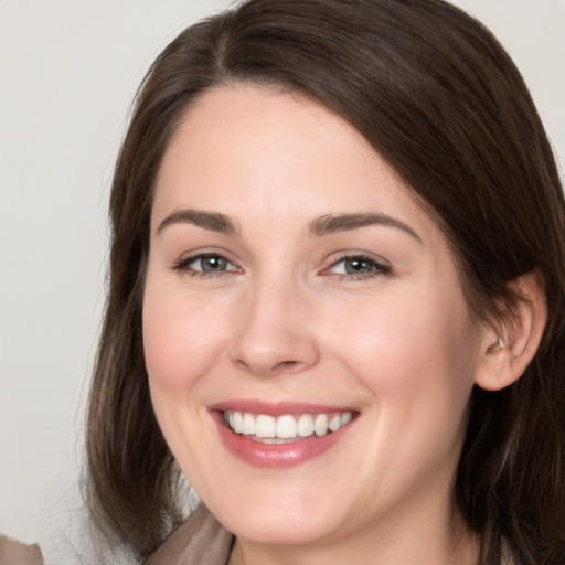
{"label": "woman's long dark brown side-parted hair", "polygon": [[497,40],[441,0],[250,0],[182,32],[139,90],[116,166],[109,296],[87,429],[93,512],[138,556],[180,519],[153,416],[141,299],[156,174],[188,106],[211,87],[274,84],[349,120],[445,231],[481,319],[536,269],[548,322],[523,376],[479,388],[457,475],[481,563],[565,553],[565,204],[526,86]]}

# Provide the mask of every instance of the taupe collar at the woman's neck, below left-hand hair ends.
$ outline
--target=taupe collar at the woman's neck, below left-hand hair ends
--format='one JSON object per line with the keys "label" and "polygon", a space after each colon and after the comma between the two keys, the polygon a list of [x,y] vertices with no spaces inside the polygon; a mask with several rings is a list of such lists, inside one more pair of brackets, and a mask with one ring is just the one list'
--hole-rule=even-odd
{"label": "taupe collar at the woman's neck, below left-hand hair ends", "polygon": [[233,534],[201,504],[145,565],[225,565],[233,541]]}

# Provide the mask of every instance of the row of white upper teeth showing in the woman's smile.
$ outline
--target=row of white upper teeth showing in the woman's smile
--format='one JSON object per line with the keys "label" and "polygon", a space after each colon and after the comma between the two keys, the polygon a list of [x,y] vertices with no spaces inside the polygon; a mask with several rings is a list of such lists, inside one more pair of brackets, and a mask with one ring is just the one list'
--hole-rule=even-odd
{"label": "row of white upper teeth showing in the woman's smile", "polygon": [[297,436],[309,437],[315,433],[318,436],[324,436],[329,431],[337,431],[343,427],[352,416],[351,412],[302,414],[298,417],[285,415],[278,418],[266,414],[256,415],[238,411],[224,413],[224,419],[236,434],[280,439],[290,439]]}

